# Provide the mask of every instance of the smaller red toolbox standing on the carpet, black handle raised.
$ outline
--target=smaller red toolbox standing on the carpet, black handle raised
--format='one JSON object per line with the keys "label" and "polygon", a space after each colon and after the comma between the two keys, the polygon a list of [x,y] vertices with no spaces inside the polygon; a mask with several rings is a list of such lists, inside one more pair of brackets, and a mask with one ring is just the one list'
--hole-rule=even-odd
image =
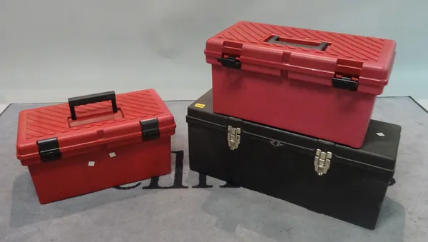
{"label": "smaller red toolbox standing on the carpet, black handle raised", "polygon": [[170,173],[174,133],[155,90],[110,91],[21,111],[16,156],[44,204]]}

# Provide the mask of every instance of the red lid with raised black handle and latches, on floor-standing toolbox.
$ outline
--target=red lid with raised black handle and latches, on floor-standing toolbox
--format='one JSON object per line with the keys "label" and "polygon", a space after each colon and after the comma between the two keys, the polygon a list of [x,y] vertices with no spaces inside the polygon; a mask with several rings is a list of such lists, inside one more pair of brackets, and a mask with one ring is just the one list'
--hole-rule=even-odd
{"label": "red lid with raised black handle and latches, on floor-standing toolbox", "polygon": [[108,91],[21,111],[16,156],[28,166],[82,150],[91,152],[106,143],[148,141],[174,133],[173,115],[155,90],[117,96]]}

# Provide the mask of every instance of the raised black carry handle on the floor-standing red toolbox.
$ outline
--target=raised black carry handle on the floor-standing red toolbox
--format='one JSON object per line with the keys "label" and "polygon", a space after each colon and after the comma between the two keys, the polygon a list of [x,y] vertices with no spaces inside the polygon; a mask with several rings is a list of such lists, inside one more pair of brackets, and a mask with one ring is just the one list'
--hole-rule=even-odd
{"label": "raised black carry handle on the floor-standing red toolbox", "polygon": [[116,105],[116,94],[114,91],[106,91],[99,94],[90,94],[86,96],[76,96],[68,99],[68,106],[70,106],[71,119],[76,120],[76,110],[74,107],[85,104],[95,104],[101,101],[110,101],[113,106],[113,113],[118,112],[118,106]]}

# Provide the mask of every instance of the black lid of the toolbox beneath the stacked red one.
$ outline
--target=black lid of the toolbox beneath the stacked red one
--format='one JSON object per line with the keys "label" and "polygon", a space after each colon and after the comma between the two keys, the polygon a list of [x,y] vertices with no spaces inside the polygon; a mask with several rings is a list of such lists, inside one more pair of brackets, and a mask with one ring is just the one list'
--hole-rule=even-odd
{"label": "black lid of the toolbox beneath the stacked red one", "polygon": [[401,133],[399,125],[371,120],[362,148],[351,148],[280,128],[215,114],[212,90],[188,106],[186,120],[222,130],[227,130],[228,125],[238,126],[241,128],[241,133],[263,138],[277,146],[285,146],[295,151],[314,155],[320,148],[322,151],[332,152],[332,161],[384,171],[394,171],[395,169]]}

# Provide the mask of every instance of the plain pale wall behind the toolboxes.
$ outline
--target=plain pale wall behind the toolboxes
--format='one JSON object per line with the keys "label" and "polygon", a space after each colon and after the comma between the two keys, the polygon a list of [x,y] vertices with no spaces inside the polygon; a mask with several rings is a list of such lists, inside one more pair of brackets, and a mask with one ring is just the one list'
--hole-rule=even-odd
{"label": "plain pale wall behind the toolboxes", "polygon": [[428,99],[427,7],[422,0],[1,0],[0,103],[146,88],[195,99],[211,84],[205,40],[239,20],[394,39],[384,95]]}

